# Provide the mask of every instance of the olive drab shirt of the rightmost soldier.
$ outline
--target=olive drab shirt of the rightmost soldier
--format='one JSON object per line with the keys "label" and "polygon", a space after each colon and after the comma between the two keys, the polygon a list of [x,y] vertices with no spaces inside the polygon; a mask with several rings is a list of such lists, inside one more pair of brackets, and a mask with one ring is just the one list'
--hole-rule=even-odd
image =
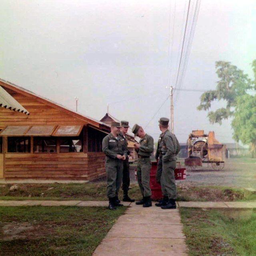
{"label": "olive drab shirt of the rightmost soldier", "polygon": [[163,161],[176,161],[176,155],[180,152],[180,144],[176,136],[169,130],[162,134]]}

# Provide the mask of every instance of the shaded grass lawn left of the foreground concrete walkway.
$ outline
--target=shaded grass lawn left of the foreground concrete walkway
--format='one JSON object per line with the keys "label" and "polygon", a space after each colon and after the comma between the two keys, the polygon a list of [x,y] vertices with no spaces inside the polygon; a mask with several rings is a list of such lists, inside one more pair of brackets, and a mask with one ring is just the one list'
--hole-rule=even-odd
{"label": "shaded grass lawn left of the foreground concrete walkway", "polygon": [[92,255],[125,207],[0,207],[0,255]]}

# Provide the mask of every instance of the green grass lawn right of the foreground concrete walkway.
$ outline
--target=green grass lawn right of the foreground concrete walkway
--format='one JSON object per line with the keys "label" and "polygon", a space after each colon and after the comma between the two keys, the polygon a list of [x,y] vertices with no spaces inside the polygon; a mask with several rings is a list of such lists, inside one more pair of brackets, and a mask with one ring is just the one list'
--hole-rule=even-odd
{"label": "green grass lawn right of the foreground concrete walkway", "polygon": [[255,256],[256,210],[180,208],[189,256]]}

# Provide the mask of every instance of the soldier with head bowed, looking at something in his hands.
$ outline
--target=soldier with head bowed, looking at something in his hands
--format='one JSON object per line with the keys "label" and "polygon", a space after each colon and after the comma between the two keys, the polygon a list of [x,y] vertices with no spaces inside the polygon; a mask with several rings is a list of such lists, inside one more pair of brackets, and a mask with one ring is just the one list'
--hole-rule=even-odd
{"label": "soldier with head bowed, looking at something in his hands", "polygon": [[143,204],[143,207],[152,206],[151,202],[151,190],[150,190],[150,169],[151,161],[150,156],[154,151],[154,140],[146,134],[141,126],[135,124],[132,128],[134,136],[140,137],[140,142],[135,143],[135,149],[138,153],[138,164],[137,164],[137,178],[140,191],[142,193],[142,200],[136,202],[136,204]]}

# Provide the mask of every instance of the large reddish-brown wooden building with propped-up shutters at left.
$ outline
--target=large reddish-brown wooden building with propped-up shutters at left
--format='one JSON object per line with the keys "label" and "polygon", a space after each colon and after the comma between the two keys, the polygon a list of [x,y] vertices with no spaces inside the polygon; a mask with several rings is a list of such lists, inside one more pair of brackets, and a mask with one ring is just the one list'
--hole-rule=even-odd
{"label": "large reddish-brown wooden building with propped-up shutters at left", "polygon": [[24,109],[0,105],[0,179],[93,180],[105,175],[102,139],[110,126],[10,82],[0,80],[1,86]]}

